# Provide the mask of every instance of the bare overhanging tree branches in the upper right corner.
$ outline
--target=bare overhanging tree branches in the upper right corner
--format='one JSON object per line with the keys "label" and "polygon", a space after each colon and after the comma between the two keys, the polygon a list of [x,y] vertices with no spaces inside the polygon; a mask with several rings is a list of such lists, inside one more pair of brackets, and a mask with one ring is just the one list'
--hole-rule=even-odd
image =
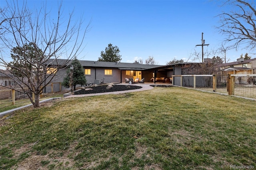
{"label": "bare overhanging tree branches in the upper right corner", "polygon": [[224,5],[232,6],[232,11],[220,14],[220,33],[227,36],[224,42],[231,42],[234,48],[246,45],[256,47],[256,10],[255,1],[228,0]]}

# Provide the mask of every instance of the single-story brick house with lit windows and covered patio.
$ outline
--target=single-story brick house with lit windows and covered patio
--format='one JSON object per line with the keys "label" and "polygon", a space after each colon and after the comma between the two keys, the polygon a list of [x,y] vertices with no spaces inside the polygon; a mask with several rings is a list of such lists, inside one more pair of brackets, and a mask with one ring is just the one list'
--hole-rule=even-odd
{"label": "single-story brick house with lit windows and covered patio", "polygon": [[[52,67],[54,67],[57,62],[69,63],[69,65],[66,65],[66,68],[69,68],[71,63],[71,61],[66,62],[64,59],[50,59],[49,62]],[[172,81],[172,75],[182,75],[182,69],[186,68],[184,67],[185,65],[195,64],[176,63],[172,65],[147,65],[138,62],[122,63],[84,60],[80,60],[80,63],[84,68],[84,76],[88,84],[102,81],[104,83],[125,83],[125,78],[145,78],[145,82],[170,83]],[[57,75],[52,79],[52,83],[62,82],[65,76],[66,69],[58,71]],[[58,87],[58,85],[56,86]],[[47,88],[44,93],[50,92],[50,89],[50,87]],[[61,87],[61,89],[67,90],[65,87]]]}

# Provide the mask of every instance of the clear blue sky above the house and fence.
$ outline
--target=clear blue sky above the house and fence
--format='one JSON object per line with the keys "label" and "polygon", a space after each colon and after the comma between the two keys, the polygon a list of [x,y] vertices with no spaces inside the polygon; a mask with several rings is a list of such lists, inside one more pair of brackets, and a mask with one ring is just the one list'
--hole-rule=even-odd
{"label": "clear blue sky above the house and fence", "polygon": [[[31,8],[42,6],[40,0],[28,0]],[[48,8],[54,13],[57,0],[47,0]],[[218,32],[218,14],[226,10],[217,0],[64,0],[64,14],[74,9],[74,18],[83,16],[90,24],[86,33],[86,47],[77,56],[81,60],[97,61],[100,52],[111,43],[120,49],[120,62],[133,63],[151,56],[158,65],[166,65],[173,59],[193,60],[194,51],[220,48],[224,36]],[[4,6],[0,0],[0,6]],[[255,58],[255,51],[239,48],[226,52],[229,62],[236,61],[241,54]],[[223,57],[224,54],[216,54]],[[213,56],[209,56],[210,58]]]}

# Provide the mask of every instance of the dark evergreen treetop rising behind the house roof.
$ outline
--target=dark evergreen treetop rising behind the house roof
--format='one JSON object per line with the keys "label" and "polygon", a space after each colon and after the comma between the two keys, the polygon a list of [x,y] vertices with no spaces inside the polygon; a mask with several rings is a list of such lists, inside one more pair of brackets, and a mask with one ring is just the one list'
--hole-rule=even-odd
{"label": "dark evergreen treetop rising behind the house roof", "polygon": [[106,47],[105,52],[101,51],[98,61],[109,61],[109,62],[118,62],[121,61],[121,56],[119,54],[120,50],[117,46],[112,46],[111,43],[108,44],[108,47]]}

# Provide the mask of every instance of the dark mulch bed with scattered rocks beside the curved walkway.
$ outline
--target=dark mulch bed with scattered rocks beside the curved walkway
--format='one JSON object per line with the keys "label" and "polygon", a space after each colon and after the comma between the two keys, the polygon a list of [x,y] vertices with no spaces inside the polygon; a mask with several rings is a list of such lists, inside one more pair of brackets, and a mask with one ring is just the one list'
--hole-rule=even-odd
{"label": "dark mulch bed with scattered rocks beside the curved walkway", "polygon": [[110,89],[106,89],[107,85],[99,85],[97,87],[87,87],[86,89],[80,89],[78,91],[74,91],[74,95],[84,95],[84,94],[92,94],[92,93],[106,93],[106,92],[114,92],[114,91],[125,91],[125,90],[135,90],[142,88],[141,86],[136,85],[113,85]]}

